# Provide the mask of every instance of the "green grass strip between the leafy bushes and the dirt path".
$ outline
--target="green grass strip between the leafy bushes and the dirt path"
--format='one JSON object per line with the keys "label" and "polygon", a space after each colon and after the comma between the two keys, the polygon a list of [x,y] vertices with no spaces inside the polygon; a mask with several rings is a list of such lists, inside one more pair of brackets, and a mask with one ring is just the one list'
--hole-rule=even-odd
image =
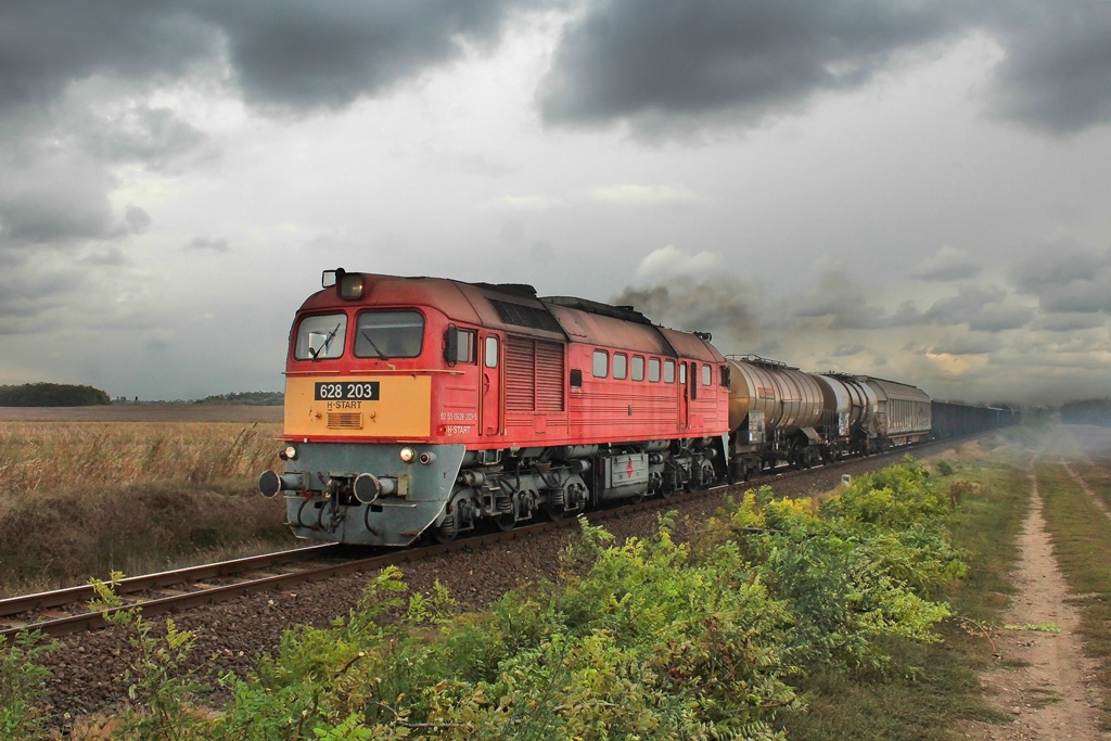
{"label": "green grass strip between the leafy bushes and the dirt path", "polygon": [[941,740],[959,738],[955,729],[964,721],[1010,720],[987,704],[978,673],[995,661],[987,629],[998,623],[1012,591],[1008,574],[1018,559],[1029,483],[1014,449],[993,445],[965,447],[944,459],[943,468],[953,472],[941,477],[939,485],[960,503],[950,527],[971,568],[968,578],[937,595],[949,601],[953,613],[939,625],[943,641],[892,641],[885,647],[891,661],[882,672],[808,678],[810,709],[787,719],[788,738]]}

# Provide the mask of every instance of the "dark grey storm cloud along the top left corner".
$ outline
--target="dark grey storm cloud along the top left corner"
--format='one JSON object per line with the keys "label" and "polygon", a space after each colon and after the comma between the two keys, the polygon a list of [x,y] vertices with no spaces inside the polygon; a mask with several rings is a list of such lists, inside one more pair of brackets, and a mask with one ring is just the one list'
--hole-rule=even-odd
{"label": "dark grey storm cloud along the top left corner", "polygon": [[36,0],[0,11],[0,112],[46,107],[93,76],[151,83],[226,51],[254,104],[338,107],[498,40],[536,0]]}

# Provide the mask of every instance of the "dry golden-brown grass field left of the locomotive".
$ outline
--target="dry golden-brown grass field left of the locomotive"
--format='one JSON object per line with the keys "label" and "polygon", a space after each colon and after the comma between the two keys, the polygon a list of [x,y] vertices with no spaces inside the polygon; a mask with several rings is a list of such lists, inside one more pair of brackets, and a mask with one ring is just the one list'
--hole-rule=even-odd
{"label": "dry golden-brown grass field left of the locomotive", "polygon": [[0,593],[292,544],[283,508],[254,489],[279,465],[280,409],[2,411]]}

